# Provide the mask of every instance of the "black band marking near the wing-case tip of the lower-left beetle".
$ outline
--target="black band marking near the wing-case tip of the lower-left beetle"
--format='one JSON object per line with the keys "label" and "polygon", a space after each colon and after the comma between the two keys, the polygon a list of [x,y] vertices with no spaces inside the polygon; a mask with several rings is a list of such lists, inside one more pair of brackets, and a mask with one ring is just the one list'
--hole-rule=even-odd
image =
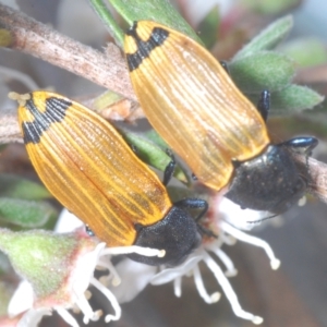
{"label": "black band marking near the wing-case tip of the lower-left beetle", "polygon": [[69,100],[50,97],[46,99],[46,110],[41,112],[35,106],[33,98],[27,100],[25,107],[34,116],[34,121],[22,123],[24,143],[39,143],[43,133],[52,123],[61,122],[64,119],[65,110],[70,106],[72,106],[72,102]]}

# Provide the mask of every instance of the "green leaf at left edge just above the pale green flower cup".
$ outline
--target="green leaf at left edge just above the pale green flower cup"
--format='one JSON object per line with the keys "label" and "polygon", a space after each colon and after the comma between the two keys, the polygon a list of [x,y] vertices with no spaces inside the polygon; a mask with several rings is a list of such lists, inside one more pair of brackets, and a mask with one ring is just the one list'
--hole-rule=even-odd
{"label": "green leaf at left edge just above the pale green flower cup", "polygon": [[57,211],[45,202],[0,197],[0,219],[25,228],[44,226]]}

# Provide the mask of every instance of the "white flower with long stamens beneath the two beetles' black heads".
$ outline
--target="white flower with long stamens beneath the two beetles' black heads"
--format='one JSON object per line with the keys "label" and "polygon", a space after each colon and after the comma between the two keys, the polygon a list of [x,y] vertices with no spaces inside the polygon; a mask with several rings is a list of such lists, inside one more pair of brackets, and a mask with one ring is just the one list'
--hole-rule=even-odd
{"label": "white flower with long stamens beneath the two beetles' black heads", "polygon": [[[249,230],[253,228],[255,225],[249,223],[249,221],[259,220],[262,218],[262,213],[243,210],[227,198],[221,199],[217,197],[217,201],[219,202],[219,205],[216,204],[215,207],[219,208],[219,211],[221,210],[221,213],[214,213],[215,217],[213,217],[213,219],[215,219],[215,223],[217,223],[219,230],[218,238],[210,242],[204,242],[201,247],[194,251],[180,266],[173,268],[162,267],[156,272],[154,267],[134,263],[129,258],[125,258],[118,265],[117,269],[119,269],[122,283],[118,287],[110,287],[110,289],[120,302],[132,300],[147,282],[154,286],[173,282],[175,296],[181,296],[182,277],[193,276],[195,287],[202,299],[206,303],[215,303],[220,299],[220,293],[215,291],[214,293],[208,294],[206,291],[198,267],[198,264],[204,262],[220,284],[234,314],[243,319],[252,320],[257,325],[263,323],[262,317],[244,311],[239,303],[238,296],[228,279],[228,277],[235,276],[238,270],[231,258],[221,250],[221,247],[223,245],[233,245],[235,241],[239,240],[262,247],[270,261],[271,269],[278,269],[280,262],[275,257],[274,252],[267,242],[256,237],[252,237],[239,229],[242,228]],[[225,219],[218,217],[219,214],[222,214]],[[238,228],[233,225],[238,226]],[[215,257],[221,262],[223,269],[217,264]],[[125,267],[128,267],[128,269]],[[137,274],[138,271],[141,274]]]}

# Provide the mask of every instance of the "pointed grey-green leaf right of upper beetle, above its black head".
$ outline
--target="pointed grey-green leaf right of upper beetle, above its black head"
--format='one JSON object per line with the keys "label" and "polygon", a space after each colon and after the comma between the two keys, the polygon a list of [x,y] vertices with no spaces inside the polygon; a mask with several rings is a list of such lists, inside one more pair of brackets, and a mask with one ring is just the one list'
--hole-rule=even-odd
{"label": "pointed grey-green leaf right of upper beetle, above its black head", "polygon": [[311,109],[323,100],[324,97],[315,90],[293,84],[281,92],[271,94],[271,114],[295,113]]}

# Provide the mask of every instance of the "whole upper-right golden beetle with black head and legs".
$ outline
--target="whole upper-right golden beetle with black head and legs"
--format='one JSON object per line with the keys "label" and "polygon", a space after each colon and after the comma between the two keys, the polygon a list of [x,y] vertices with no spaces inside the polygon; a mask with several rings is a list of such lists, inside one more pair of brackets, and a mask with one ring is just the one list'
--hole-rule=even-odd
{"label": "whole upper-right golden beetle with black head and legs", "polygon": [[155,22],[135,22],[124,51],[145,116],[199,182],[256,210],[282,213],[303,196],[293,155],[308,156],[317,140],[271,144],[268,90],[255,108],[205,48]]}

